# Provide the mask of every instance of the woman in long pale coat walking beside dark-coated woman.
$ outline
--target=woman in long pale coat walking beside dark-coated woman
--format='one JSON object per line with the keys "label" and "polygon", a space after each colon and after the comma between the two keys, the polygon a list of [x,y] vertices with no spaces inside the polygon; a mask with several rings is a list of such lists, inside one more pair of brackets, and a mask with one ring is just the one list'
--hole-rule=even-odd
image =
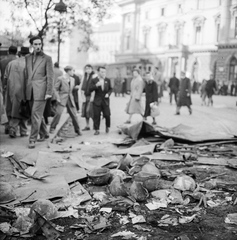
{"label": "woman in long pale coat walking beside dark-coated woman", "polygon": [[129,114],[129,118],[125,123],[131,123],[133,114],[141,114],[143,117],[144,109],[142,107],[141,98],[144,89],[144,81],[140,76],[140,71],[137,68],[133,69],[133,79],[131,81],[130,100],[125,109]]}

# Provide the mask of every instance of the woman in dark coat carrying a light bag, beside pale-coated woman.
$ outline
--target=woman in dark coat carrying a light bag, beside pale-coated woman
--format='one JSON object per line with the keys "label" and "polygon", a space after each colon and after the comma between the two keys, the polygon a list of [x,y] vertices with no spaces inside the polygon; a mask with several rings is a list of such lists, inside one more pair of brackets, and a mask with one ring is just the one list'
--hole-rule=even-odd
{"label": "woman in dark coat carrying a light bag, beside pale-coated woman", "polygon": [[[151,116],[151,103],[156,103],[158,105],[158,91],[157,91],[157,84],[154,81],[153,76],[150,72],[146,74],[146,85],[145,85],[145,92],[146,92],[146,108],[144,114],[144,120],[147,120],[148,116]],[[156,125],[155,117],[152,117],[153,125]]]}

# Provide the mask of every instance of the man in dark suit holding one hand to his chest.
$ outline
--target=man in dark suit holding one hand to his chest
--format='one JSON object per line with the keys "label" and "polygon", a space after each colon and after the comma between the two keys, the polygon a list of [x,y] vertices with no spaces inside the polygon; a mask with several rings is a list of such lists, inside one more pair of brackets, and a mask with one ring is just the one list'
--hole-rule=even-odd
{"label": "man in dark suit holding one hand to his chest", "polygon": [[91,80],[90,91],[95,91],[95,97],[93,101],[93,120],[94,120],[94,129],[95,135],[99,135],[100,132],[100,118],[101,113],[105,118],[105,128],[106,133],[109,132],[110,128],[110,106],[109,106],[109,97],[112,93],[112,87],[110,79],[106,78],[106,69],[105,67],[98,68],[98,77]]}

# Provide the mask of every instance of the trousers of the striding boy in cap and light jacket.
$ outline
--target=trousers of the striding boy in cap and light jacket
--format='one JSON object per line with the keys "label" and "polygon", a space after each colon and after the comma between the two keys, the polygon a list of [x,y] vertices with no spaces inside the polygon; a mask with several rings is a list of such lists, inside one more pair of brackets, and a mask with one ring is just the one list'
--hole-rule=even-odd
{"label": "trousers of the striding boy in cap and light jacket", "polygon": [[[56,113],[55,116],[51,122],[50,129],[55,129],[60,121],[60,118],[62,116],[63,110],[65,106],[62,106],[61,104],[58,104],[56,107]],[[75,132],[78,132],[80,130],[79,122],[77,118],[77,111],[76,108],[72,105],[71,101],[68,100],[66,105],[67,111],[72,119],[72,124],[74,126]]]}

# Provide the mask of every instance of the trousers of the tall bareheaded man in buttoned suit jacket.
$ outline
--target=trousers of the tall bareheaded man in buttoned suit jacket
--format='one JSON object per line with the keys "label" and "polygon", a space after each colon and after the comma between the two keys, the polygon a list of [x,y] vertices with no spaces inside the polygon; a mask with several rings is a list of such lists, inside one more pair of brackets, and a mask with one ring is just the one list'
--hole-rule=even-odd
{"label": "trousers of the tall bareheaded man in buttoned suit jacket", "polygon": [[46,101],[37,101],[33,100],[30,102],[32,106],[31,111],[31,133],[30,133],[30,142],[35,142],[38,135],[41,137],[48,135],[47,126],[45,124],[43,114],[46,105]]}

